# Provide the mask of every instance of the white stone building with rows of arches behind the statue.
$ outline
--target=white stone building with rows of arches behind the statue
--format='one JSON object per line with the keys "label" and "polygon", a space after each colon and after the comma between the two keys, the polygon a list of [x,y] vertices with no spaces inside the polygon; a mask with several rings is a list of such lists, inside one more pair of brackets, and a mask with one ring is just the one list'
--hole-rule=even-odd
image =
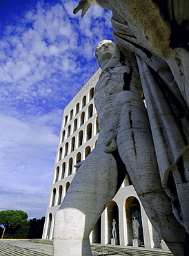
{"label": "white stone building with rows of arches behind the statue", "polygon": [[[83,161],[97,143],[98,117],[94,107],[93,95],[94,86],[100,72],[99,68],[64,109],[43,239],[52,239],[54,214],[59,209],[70,182],[75,172],[77,172],[74,165]],[[117,222],[118,244],[132,246],[132,239],[134,239],[132,220],[134,216],[140,224],[139,239],[141,245],[146,248],[160,248],[161,238],[143,210],[128,176],[126,176],[119,192],[110,202],[108,208],[101,214],[90,234],[90,241],[92,243],[110,244],[112,221],[115,219]]]}

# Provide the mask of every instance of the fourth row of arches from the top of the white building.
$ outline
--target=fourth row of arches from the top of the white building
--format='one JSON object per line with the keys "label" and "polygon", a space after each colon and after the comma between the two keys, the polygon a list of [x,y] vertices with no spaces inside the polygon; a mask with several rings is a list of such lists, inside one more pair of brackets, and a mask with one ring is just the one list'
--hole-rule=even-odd
{"label": "fourth row of arches from the top of the white building", "polygon": [[[94,147],[96,144],[97,144],[97,140],[94,143]],[[53,183],[56,183],[57,181],[60,181],[61,179],[64,179],[67,176],[70,176],[71,174],[73,174],[74,173],[74,165],[77,165],[77,163],[80,163],[81,161],[85,160],[86,157],[88,156],[88,154],[90,154],[90,152],[91,152],[91,147],[87,146],[84,149],[83,157],[81,155],[81,152],[78,152],[74,159],[72,157],[70,157],[69,160],[67,161],[67,163],[63,162],[63,164],[61,165],[61,168],[59,166],[57,166],[56,172],[54,174]],[[77,170],[77,168],[76,168],[76,170]]]}

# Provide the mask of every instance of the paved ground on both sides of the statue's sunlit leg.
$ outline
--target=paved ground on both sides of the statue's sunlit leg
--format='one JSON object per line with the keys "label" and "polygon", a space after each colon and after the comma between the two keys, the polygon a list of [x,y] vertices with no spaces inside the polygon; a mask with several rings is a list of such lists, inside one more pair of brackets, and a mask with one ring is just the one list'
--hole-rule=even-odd
{"label": "paved ground on both sides of the statue's sunlit leg", "polygon": [[[92,244],[92,254],[125,256],[172,256],[161,249],[133,248],[132,246],[110,246]],[[0,239],[0,256],[52,256],[52,241],[46,239]]]}

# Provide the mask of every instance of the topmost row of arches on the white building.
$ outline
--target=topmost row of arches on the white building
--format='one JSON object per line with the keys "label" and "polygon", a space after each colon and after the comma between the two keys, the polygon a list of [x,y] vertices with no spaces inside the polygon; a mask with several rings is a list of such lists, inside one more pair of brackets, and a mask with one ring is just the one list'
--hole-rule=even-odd
{"label": "topmost row of arches on the white building", "polygon": [[[90,100],[92,100],[92,98],[94,98],[94,87],[92,87],[92,88],[90,89],[90,91],[89,91],[89,94],[88,94],[88,102],[90,102]],[[64,118],[64,126],[67,125],[68,120],[69,120],[69,122],[70,122],[70,120],[72,120],[72,118],[73,118],[73,113],[74,113],[74,116],[76,116],[77,113],[79,113],[79,111],[80,111],[81,109],[83,109],[83,107],[86,106],[86,104],[87,104],[87,97],[86,97],[86,95],[85,95],[85,96],[83,96],[83,98],[82,98],[81,104],[79,104],[79,102],[78,102],[78,103],[76,104],[76,106],[75,106],[75,109],[74,109],[74,110],[72,109],[72,110],[70,111],[69,115],[67,115],[67,116]]]}

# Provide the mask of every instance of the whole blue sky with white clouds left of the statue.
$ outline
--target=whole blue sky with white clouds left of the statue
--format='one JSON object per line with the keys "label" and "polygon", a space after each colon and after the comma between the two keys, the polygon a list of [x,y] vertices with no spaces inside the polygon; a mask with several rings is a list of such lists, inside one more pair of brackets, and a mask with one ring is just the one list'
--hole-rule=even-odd
{"label": "whole blue sky with white clouds left of the statue", "polygon": [[112,39],[111,12],[74,0],[0,0],[0,210],[46,214],[63,108]]}

